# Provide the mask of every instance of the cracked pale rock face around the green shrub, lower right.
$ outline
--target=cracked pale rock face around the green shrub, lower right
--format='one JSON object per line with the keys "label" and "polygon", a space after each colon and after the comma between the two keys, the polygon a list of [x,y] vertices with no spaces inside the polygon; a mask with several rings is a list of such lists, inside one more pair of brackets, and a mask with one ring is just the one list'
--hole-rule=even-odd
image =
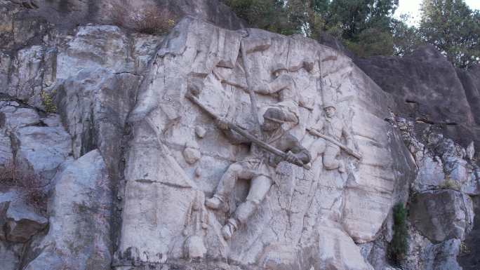
{"label": "cracked pale rock face around the green shrub, lower right", "polygon": [[[418,166],[411,184],[407,269],[461,269],[478,266],[471,251],[478,226],[480,168],[465,156],[465,149],[436,133],[425,123],[394,120]],[[416,131],[416,132],[415,132]],[[417,137],[418,135],[418,137]],[[468,241],[466,241],[468,239]],[[458,259],[462,258],[463,259]]]}

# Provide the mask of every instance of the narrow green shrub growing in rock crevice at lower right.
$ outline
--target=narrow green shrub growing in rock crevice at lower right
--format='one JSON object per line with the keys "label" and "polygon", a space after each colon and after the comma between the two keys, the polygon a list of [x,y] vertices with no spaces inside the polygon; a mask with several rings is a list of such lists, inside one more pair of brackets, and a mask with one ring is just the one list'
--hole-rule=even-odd
{"label": "narrow green shrub growing in rock crevice at lower right", "polygon": [[404,203],[397,203],[393,208],[394,235],[392,241],[388,245],[387,255],[394,265],[400,265],[405,258],[407,251],[408,230],[406,226],[407,210]]}

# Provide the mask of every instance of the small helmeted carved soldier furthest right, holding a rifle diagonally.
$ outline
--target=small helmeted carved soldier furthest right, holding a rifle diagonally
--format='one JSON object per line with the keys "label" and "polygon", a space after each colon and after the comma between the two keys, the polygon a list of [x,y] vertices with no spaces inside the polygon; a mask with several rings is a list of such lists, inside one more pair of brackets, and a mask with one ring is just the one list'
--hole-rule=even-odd
{"label": "small helmeted carved soldier furthest right, holding a rifle diagonally", "polygon": [[[333,138],[337,142],[341,142],[342,137],[347,142],[347,147],[353,149],[352,135],[349,133],[347,126],[337,115],[337,109],[333,103],[324,104],[325,119],[320,119],[314,126],[309,128],[309,133],[321,133]],[[345,164],[337,159],[340,154],[340,147],[333,142],[328,142],[323,138],[318,138],[309,148],[312,153],[312,160],[320,154],[324,156],[324,168],[327,170],[338,169],[340,173],[345,173]]]}

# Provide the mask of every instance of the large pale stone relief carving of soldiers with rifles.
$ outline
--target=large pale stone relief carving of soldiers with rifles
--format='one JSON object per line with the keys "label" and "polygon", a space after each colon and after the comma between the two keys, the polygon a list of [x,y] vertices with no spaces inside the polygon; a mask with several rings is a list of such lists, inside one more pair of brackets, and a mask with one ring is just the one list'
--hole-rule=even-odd
{"label": "large pale stone relief carving of soldiers with rifles", "polygon": [[[133,126],[118,264],[208,258],[277,270],[369,269],[355,242],[377,234],[391,198],[366,181],[391,190],[376,175],[393,161],[389,150],[368,152],[389,139],[363,124],[385,121],[365,106],[376,97],[361,73],[300,36],[182,27],[139,94],[153,105]],[[158,102],[167,93],[175,106]],[[324,110],[331,93],[338,99]],[[368,152],[365,162],[348,157],[361,158],[357,149]],[[358,181],[343,176],[351,170]],[[356,215],[360,203],[375,207],[374,222]]]}

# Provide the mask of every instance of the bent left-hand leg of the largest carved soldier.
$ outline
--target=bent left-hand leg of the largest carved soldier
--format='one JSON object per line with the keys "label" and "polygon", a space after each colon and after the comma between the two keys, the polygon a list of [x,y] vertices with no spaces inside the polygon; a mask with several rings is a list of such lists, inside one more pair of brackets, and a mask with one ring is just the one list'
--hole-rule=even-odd
{"label": "bent left-hand leg of the largest carved soldier", "polygon": [[220,179],[215,195],[206,200],[205,205],[214,210],[222,207],[229,194],[232,193],[236,180],[239,178],[251,179],[252,177],[251,171],[241,166],[241,163],[233,163]]}

